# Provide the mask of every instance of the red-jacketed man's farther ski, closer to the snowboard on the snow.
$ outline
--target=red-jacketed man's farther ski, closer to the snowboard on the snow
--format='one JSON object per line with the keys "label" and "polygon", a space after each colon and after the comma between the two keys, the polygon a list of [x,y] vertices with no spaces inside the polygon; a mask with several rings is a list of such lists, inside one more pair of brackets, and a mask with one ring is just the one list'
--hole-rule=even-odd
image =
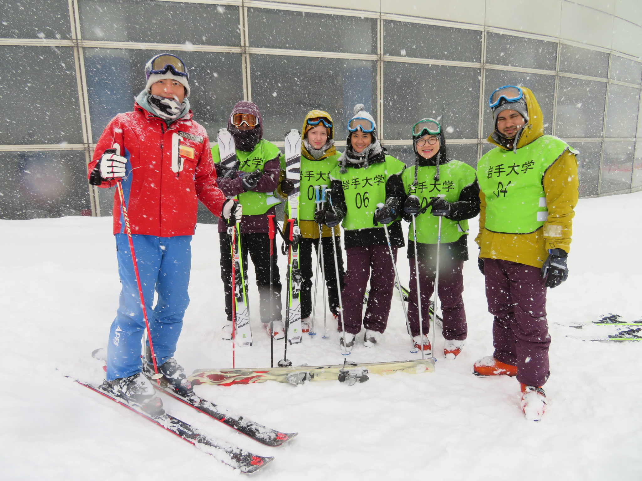
{"label": "red-jacketed man's farther ski, closer to the snowboard on the snow", "polygon": [[[98,360],[106,360],[107,350],[97,349],[92,353],[92,357]],[[152,379],[153,373],[144,369],[144,375],[152,382],[153,387],[157,391],[161,391],[172,398],[181,401],[182,403],[187,404],[188,406],[193,407],[194,409],[207,414],[211,418],[220,421],[224,425],[230,426],[230,428],[238,431],[241,434],[245,434],[247,437],[251,437],[254,441],[257,441],[266,446],[281,446],[281,444],[287,443],[293,437],[297,436],[299,433],[283,433],[271,428],[266,428],[259,423],[251,421],[243,416],[236,416],[227,410],[217,406],[211,401],[199,398],[194,394],[193,396],[182,396],[178,392],[174,391],[167,382],[165,376],[160,378],[160,385],[157,384],[156,380]]]}

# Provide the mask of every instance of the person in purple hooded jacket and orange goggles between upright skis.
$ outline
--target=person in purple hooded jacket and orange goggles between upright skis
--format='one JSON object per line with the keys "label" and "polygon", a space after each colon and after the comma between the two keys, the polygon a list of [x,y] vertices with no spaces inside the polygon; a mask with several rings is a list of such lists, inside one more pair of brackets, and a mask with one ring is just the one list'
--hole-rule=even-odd
{"label": "person in purple hooded jacket and orange goggles between upright skis", "polygon": [[[273,196],[279,185],[281,174],[281,151],[263,139],[263,119],[258,106],[252,102],[240,101],[234,105],[227,121],[227,130],[234,137],[238,168],[230,170],[221,165],[218,145],[212,148],[216,163],[218,187],[227,198],[238,198],[243,205],[241,221],[241,253],[243,271],[247,282],[248,253],[254,264],[256,285],[259,288],[259,310],[261,321],[268,333],[270,322],[274,323],[275,339],[283,339],[284,326],[281,316],[281,281],[277,266],[277,249],[273,244],[273,283],[270,286],[270,238],[268,215],[275,215],[275,205],[281,203]],[[227,323],[223,327],[223,339],[232,339],[232,258],[230,237],[225,223],[218,224],[221,246],[221,279],[225,286],[225,314]]]}

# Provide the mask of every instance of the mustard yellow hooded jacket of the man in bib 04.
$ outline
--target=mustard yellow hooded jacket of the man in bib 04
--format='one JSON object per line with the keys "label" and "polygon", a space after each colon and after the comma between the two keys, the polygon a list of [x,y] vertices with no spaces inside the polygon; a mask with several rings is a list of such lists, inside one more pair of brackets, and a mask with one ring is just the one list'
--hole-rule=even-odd
{"label": "mustard yellow hooded jacket of the man in bib 04", "polygon": [[[544,122],[533,92],[521,87],[528,108],[528,122],[521,130],[517,149],[522,148],[544,135]],[[494,139],[496,133],[488,137],[495,146],[508,150]],[[566,151],[551,165],[542,180],[546,193],[548,219],[542,228],[528,234],[509,234],[491,232],[484,228],[486,221],[486,198],[480,192],[480,232],[475,239],[480,246],[480,257],[510,260],[526,266],[542,267],[548,249],[562,249],[569,252],[575,206],[579,197],[577,159]]]}

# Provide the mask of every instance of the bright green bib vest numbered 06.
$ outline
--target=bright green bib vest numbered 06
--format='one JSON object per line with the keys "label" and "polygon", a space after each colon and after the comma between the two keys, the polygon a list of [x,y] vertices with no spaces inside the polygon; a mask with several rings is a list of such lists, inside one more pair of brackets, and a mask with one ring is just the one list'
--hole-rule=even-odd
{"label": "bright green bib vest numbered 06", "polygon": [[385,162],[370,164],[367,169],[355,169],[350,165],[346,167],[345,174],[340,172],[340,165],[330,173],[333,180],[340,180],[343,185],[346,206],[343,228],[356,230],[381,227],[381,224],[374,223],[374,211],[377,210],[378,203],[386,201],[388,178],[400,174],[406,164],[386,155]]}

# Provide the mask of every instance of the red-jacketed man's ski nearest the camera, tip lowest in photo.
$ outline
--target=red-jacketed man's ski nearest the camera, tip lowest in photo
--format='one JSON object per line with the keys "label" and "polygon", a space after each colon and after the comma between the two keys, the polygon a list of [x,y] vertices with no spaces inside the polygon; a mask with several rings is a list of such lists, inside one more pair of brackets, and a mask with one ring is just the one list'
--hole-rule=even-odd
{"label": "red-jacketed man's ski nearest the camera, tip lowest in photo", "polygon": [[193,426],[175,418],[174,416],[170,416],[166,412],[163,412],[159,416],[152,416],[144,412],[140,407],[130,405],[124,399],[116,396],[105,383],[94,385],[79,380],[76,380],[76,382],[85,387],[89,387],[92,391],[96,391],[112,401],[116,401],[118,404],[128,409],[131,409],[135,413],[149,419],[152,423],[155,423],[172,434],[177,435],[181,439],[184,439],[184,441],[187,441],[187,443],[192,444],[204,453],[213,456],[223,464],[227,464],[227,466],[234,469],[239,469],[241,473],[254,473],[274,459],[273,457],[257,456],[249,451],[237,448],[233,444],[226,443],[225,441],[218,441],[200,434],[200,432],[198,432],[196,428],[193,428]]}

